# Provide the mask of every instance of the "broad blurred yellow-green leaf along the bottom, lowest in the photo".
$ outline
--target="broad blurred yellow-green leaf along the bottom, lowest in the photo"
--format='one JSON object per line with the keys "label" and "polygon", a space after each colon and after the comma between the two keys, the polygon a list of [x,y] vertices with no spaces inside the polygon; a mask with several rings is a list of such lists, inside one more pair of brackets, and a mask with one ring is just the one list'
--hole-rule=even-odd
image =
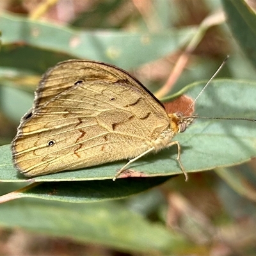
{"label": "broad blurred yellow-green leaf along the bottom, lowest in the photo", "polygon": [[0,225],[130,252],[182,252],[188,246],[182,236],[150,223],[118,202],[67,204],[20,199],[1,205]]}

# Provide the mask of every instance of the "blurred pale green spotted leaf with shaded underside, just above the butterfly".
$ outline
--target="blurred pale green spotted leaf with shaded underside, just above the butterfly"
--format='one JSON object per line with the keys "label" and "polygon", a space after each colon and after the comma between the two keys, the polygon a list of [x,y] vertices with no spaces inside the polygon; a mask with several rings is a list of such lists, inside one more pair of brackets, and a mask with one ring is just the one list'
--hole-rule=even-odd
{"label": "blurred pale green spotted leaf with shaded underside, just above the butterfly", "polygon": [[[195,33],[195,28],[155,34],[115,30],[108,33],[77,31],[3,13],[0,24],[3,33],[1,65],[29,68],[37,72],[44,72],[46,67],[55,65],[65,56],[66,59],[73,56],[112,63],[125,69],[134,68],[180,49]],[[54,52],[52,56],[51,51]],[[64,55],[58,56],[58,52]]]}

